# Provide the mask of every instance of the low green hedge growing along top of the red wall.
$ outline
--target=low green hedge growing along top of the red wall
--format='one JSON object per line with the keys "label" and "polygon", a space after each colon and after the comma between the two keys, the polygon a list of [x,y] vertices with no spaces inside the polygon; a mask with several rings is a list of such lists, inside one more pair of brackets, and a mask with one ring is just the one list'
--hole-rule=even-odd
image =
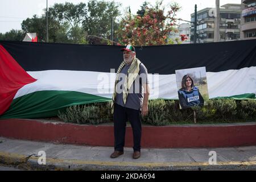
{"label": "low green hedge growing along top of the red wall", "polygon": [[[256,121],[256,100],[216,99],[209,100],[207,106],[183,110],[179,109],[179,101],[150,100],[148,115],[142,117],[142,122],[154,126],[193,123],[193,111],[196,111],[197,123]],[[79,124],[113,121],[109,102],[67,107],[58,117],[64,122]]]}

